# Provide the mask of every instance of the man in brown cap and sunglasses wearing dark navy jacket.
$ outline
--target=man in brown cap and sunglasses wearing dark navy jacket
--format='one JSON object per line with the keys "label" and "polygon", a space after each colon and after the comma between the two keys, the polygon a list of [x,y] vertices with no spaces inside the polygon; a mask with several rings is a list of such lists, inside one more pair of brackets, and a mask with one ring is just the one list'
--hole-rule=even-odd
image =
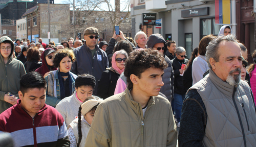
{"label": "man in brown cap and sunglasses wearing dark navy jacket", "polygon": [[86,42],[73,50],[76,56],[76,61],[72,64],[72,72],[76,75],[93,75],[96,79],[96,86],[93,94],[96,95],[98,80],[100,79],[102,72],[109,67],[109,60],[106,53],[96,44],[97,39],[99,38],[98,29],[93,27],[87,28],[84,30],[83,35]]}

